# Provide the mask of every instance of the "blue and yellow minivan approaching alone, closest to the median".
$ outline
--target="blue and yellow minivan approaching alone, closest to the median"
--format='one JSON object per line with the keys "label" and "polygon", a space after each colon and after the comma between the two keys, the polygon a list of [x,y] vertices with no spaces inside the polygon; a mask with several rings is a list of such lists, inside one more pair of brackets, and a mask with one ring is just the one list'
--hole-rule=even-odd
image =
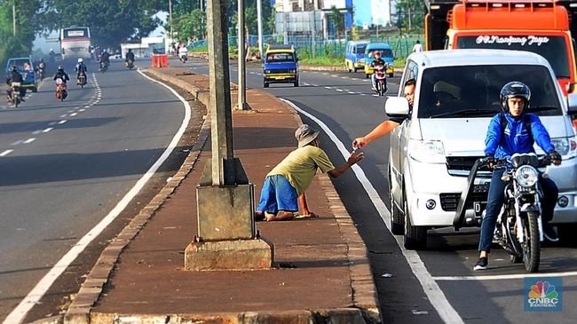
{"label": "blue and yellow minivan approaching alone, closest to the median", "polygon": [[270,83],[293,83],[298,86],[298,57],[291,45],[270,45],[263,60],[264,87]]}

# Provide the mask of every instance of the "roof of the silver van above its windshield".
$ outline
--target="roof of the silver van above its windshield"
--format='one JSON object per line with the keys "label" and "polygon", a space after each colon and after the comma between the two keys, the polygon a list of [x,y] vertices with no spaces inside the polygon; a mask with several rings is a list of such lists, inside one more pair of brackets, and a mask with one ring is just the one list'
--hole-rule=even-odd
{"label": "roof of the silver van above its windshield", "polygon": [[421,51],[411,53],[407,59],[424,67],[447,67],[496,64],[539,64],[549,66],[547,59],[530,51],[460,49]]}

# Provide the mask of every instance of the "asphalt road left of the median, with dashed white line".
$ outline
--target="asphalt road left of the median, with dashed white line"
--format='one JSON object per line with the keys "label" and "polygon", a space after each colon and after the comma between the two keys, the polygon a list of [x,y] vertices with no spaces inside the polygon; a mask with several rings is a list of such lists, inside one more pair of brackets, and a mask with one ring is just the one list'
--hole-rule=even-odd
{"label": "asphalt road left of the median, with dashed white line", "polygon": [[[67,64],[67,71],[74,71],[72,66]],[[95,225],[111,217],[185,121],[185,106],[161,85],[121,62],[104,74],[96,68],[89,65],[84,89],[71,75],[64,102],[55,99],[49,78],[20,107],[0,105],[0,320],[73,246],[82,245]],[[29,318],[54,313],[78,290],[80,277],[123,228],[125,217],[150,199],[151,187],[162,187],[167,174],[178,170],[178,164],[167,165],[147,191],[125,203],[132,215],[94,234],[99,237],[67,266],[66,279],[52,286],[50,298],[36,302],[36,315]]]}

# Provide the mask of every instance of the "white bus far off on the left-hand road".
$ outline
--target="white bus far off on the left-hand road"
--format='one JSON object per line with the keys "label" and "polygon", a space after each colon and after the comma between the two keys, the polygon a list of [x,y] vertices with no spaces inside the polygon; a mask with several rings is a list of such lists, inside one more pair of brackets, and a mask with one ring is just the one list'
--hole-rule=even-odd
{"label": "white bus far off on the left-hand road", "polygon": [[91,31],[87,27],[60,29],[62,59],[91,59]]}

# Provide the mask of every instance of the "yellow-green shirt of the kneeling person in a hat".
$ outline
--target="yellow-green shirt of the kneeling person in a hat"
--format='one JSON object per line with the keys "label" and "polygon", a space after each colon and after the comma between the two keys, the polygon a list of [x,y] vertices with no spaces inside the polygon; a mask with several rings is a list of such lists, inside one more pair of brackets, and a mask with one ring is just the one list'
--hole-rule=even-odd
{"label": "yellow-green shirt of the kneeling person in a hat", "polygon": [[320,171],[327,173],[335,169],[328,156],[317,146],[307,145],[292,151],[266,176],[281,175],[288,178],[288,182],[295,187],[296,193],[301,195],[311,186],[314,174]]}

